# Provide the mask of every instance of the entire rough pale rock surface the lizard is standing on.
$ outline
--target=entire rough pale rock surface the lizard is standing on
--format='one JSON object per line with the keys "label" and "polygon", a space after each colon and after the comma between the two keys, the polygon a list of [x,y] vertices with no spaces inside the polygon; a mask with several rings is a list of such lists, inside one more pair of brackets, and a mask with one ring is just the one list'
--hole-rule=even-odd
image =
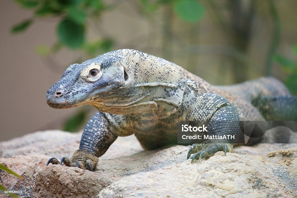
{"label": "entire rough pale rock surface the lizard is standing on", "polygon": [[[19,197],[297,197],[297,144],[257,144],[185,160],[189,147],[143,151],[135,136],[119,137],[94,172],[62,165],[81,133],[44,131],[0,142],[0,183]],[[199,196],[199,197],[200,197]],[[0,197],[8,197],[0,192]]]}

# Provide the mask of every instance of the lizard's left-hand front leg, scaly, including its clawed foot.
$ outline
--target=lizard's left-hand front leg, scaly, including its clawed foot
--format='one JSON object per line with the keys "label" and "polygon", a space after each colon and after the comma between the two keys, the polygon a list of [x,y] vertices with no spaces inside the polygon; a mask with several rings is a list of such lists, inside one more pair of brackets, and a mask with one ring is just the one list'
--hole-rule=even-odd
{"label": "lizard's left-hand front leg, scaly, including its clawed foot", "polygon": [[57,158],[50,158],[47,165],[49,163],[65,164],[93,171],[98,157],[103,155],[117,138],[110,131],[108,124],[105,115],[97,111],[84,128],[79,149],[74,152],[72,157],[70,159],[63,157],[61,161],[58,161]]}

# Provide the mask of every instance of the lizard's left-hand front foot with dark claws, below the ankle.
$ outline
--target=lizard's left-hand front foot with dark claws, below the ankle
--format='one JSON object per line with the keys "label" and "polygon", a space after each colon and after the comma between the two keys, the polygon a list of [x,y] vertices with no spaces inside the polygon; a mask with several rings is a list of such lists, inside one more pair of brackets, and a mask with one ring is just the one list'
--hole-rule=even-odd
{"label": "lizard's left-hand front foot with dark claws, below the ankle", "polygon": [[73,153],[72,157],[69,159],[67,157],[63,157],[61,161],[59,161],[57,158],[50,158],[48,160],[48,164],[65,164],[66,166],[73,166],[78,167],[81,169],[88,169],[90,171],[93,171],[96,164],[98,162],[98,157],[89,153],[85,150],[77,150]]}

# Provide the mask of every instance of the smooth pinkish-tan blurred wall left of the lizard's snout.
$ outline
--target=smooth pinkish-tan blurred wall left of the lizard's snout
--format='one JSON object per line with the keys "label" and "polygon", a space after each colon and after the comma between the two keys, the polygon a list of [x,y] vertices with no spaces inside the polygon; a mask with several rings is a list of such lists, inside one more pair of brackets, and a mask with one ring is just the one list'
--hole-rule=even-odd
{"label": "smooth pinkish-tan blurred wall left of the lizard's snout", "polygon": [[[46,104],[46,91],[61,73],[46,67],[44,60],[34,52],[37,44],[56,41],[55,20],[37,21],[26,32],[11,35],[11,26],[31,17],[31,12],[8,0],[1,2],[0,9],[1,141],[42,129],[75,109],[55,110]],[[69,53],[64,56],[73,59]]]}

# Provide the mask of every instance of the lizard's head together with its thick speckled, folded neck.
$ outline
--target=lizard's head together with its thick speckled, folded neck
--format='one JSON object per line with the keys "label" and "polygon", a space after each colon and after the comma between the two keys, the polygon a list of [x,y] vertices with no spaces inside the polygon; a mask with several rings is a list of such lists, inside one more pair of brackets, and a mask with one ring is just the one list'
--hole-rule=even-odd
{"label": "lizard's head together with its thick speckled, folded neck", "polygon": [[136,50],[122,49],[70,65],[47,92],[56,109],[91,105],[101,112],[167,117],[181,105],[182,68]]}

